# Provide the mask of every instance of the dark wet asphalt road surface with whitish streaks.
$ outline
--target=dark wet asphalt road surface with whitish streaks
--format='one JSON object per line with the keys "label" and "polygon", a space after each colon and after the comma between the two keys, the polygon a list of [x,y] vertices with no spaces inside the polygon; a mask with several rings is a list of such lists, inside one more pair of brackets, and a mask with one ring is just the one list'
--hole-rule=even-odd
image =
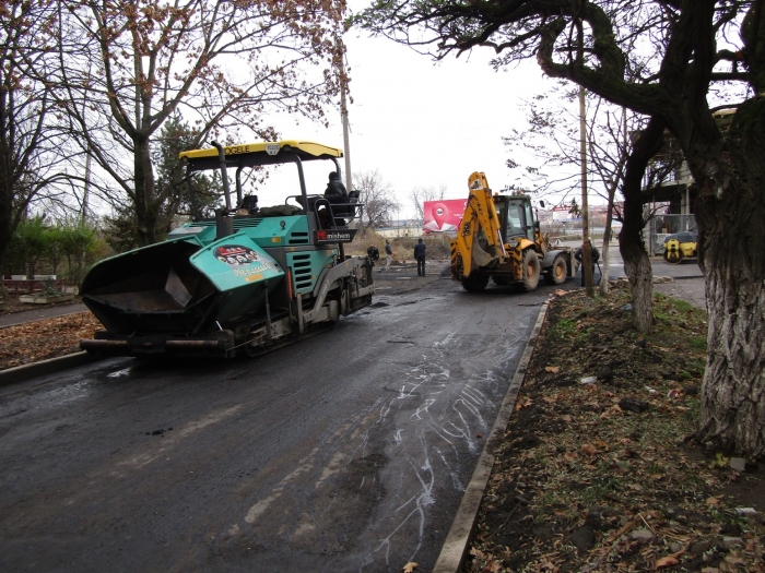
{"label": "dark wet asphalt road surface with whitish streaks", "polygon": [[377,284],[373,307],[252,360],[1,389],[0,570],[432,569],[553,288]]}

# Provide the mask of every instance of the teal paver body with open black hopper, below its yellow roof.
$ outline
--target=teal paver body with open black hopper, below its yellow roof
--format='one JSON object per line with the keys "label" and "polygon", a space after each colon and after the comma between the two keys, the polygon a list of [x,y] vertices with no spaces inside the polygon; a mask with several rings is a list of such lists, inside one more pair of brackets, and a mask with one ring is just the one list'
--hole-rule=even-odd
{"label": "teal paver body with open black hopper, below its yellow roof", "polygon": [[[280,142],[280,151],[286,146],[285,156],[294,157],[289,152],[295,143]],[[342,249],[355,231],[338,225],[344,219],[320,217],[332,205],[302,188],[292,199],[308,208],[222,210],[216,219],[175,229],[165,242],[96,264],[81,295],[106,330],[81,347],[128,356],[231,357],[368,305],[372,263]],[[327,228],[322,218],[330,222]]]}

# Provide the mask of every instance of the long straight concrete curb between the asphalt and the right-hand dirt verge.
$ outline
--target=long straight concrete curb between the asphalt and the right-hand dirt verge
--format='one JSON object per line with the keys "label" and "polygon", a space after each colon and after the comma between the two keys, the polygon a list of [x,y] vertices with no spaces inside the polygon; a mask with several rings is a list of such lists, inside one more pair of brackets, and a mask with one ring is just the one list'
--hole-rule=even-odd
{"label": "long straight concrete curb between the asphalt and the right-hand dirt verge", "polygon": [[494,447],[496,440],[502,439],[510,416],[513,416],[518,392],[520,392],[520,386],[523,384],[523,378],[526,377],[526,368],[529,366],[534,344],[539,337],[539,331],[542,329],[544,317],[548,313],[548,306],[549,302],[544,302],[539,310],[537,322],[531,330],[529,341],[526,343],[526,349],[520,357],[520,362],[518,362],[510,386],[507,389],[507,394],[505,394],[505,399],[499,407],[492,431],[483,445],[473,476],[470,478],[470,482],[462,494],[462,501],[460,501],[457,509],[455,521],[451,522],[449,533],[446,535],[446,540],[433,568],[433,573],[459,573],[462,570],[475,520],[478,518],[479,508],[481,506],[481,500],[494,467],[494,456],[489,452]]}

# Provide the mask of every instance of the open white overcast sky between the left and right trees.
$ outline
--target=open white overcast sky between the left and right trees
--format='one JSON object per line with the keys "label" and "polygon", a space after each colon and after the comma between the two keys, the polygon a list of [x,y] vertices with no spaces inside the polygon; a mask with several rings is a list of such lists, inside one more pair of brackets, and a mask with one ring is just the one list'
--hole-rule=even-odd
{"label": "open white overcast sky between the left and right trees", "polygon": [[[363,7],[356,7],[356,10]],[[434,63],[427,56],[385,38],[352,29],[344,36],[353,104],[349,105],[350,152],[353,172],[377,169],[401,203],[400,218],[413,217],[414,188],[446,188],[447,199],[468,195],[468,177],[484,171],[492,189],[510,184],[505,166],[508,153],[502,136],[525,129],[522,100],[541,92],[543,79],[536,61],[495,72],[489,48],[459,59]],[[343,147],[340,112],[328,130],[307,121],[274,118],[284,139],[306,139]],[[281,119],[281,121],[280,121]],[[327,166],[306,165],[309,193],[321,193]],[[344,169],[344,164],[341,164]],[[294,181],[293,166],[284,177]],[[311,172],[315,171],[315,172]],[[343,174],[343,181],[345,177]],[[259,191],[260,205],[283,198],[268,188],[282,180],[273,174]]]}

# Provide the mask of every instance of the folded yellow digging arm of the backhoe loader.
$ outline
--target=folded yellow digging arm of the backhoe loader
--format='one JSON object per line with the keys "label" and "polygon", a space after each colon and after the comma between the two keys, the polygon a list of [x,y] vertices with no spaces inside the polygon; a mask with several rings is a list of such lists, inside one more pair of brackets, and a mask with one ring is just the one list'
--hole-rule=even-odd
{"label": "folded yellow digging arm of the backhoe loader", "polygon": [[[470,276],[471,271],[479,266],[497,264],[507,258],[486,176],[473,172],[468,178],[468,204],[457,229],[457,238],[451,241],[451,277],[458,280]],[[484,238],[485,250],[480,244]]]}

